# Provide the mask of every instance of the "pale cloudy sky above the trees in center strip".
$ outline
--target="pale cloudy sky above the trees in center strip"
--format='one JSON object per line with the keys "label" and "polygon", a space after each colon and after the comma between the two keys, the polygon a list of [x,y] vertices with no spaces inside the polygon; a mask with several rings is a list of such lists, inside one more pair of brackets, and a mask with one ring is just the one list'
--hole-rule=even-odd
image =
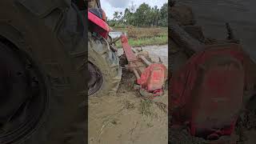
{"label": "pale cloudy sky above the trees in center strip", "polygon": [[158,6],[158,8],[161,8],[168,0],[101,0],[101,5],[102,9],[106,12],[106,17],[112,19],[114,11],[124,12],[127,7],[132,5],[132,2],[134,2],[136,8],[143,2],[151,7]]}

